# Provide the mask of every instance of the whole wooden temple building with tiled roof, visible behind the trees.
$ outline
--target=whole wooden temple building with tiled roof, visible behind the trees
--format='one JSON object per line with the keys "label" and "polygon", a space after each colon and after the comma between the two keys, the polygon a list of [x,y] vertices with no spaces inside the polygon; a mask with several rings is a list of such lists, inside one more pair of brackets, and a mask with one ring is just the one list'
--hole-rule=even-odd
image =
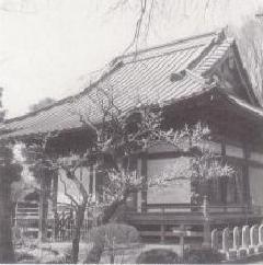
{"label": "whole wooden temple building with tiled roof, visible behind the trees", "polygon": [[[165,124],[174,129],[207,124],[210,149],[237,172],[235,177],[209,183],[209,227],[262,220],[263,108],[235,39],[224,32],[208,33],[117,57],[81,93],[7,120],[0,137],[26,142],[56,132],[54,148],[58,153],[84,150],[91,140],[90,128],[102,122],[103,104],[108,99],[122,113],[160,104]],[[174,148],[159,142],[138,157],[136,166],[138,174],[152,176],[185,163]],[[95,169],[83,168],[79,177],[98,196],[102,180]],[[62,194],[59,180],[54,186]],[[135,194],[127,203],[126,222],[145,237],[164,240],[175,237],[173,229],[182,226],[191,231],[190,237],[201,237],[207,218],[202,207],[193,209],[191,184],[181,181]]]}

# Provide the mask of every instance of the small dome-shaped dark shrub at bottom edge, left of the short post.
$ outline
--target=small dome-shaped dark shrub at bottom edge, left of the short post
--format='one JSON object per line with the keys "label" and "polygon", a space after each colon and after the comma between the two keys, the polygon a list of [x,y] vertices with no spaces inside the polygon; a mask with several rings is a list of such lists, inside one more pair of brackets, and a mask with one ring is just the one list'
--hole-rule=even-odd
{"label": "small dome-shaped dark shrub at bottom edge, left of the short post", "polygon": [[179,257],[175,252],[167,249],[152,249],[142,252],[136,260],[138,264],[174,264],[179,263]]}

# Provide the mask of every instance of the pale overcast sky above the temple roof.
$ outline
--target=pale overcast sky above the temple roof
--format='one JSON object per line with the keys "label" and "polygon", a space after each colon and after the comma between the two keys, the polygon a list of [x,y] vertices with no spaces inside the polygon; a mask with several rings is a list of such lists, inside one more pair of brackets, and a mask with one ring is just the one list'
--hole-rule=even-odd
{"label": "pale overcast sky above the temple roof", "polygon": [[[114,0],[0,0],[0,87],[8,116],[49,96],[82,90],[89,72],[125,50],[133,38],[136,1],[108,12]],[[169,4],[155,21],[144,46],[240,25],[263,0],[160,0]],[[135,4],[135,5],[133,5]]]}

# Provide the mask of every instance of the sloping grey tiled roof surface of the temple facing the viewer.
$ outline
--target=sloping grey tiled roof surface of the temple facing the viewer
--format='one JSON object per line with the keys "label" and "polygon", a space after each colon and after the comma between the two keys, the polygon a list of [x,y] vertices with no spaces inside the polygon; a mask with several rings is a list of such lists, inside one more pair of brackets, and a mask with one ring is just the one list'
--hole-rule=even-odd
{"label": "sloping grey tiled roof surface of the temple facing the viewer", "polygon": [[126,112],[138,104],[180,101],[202,94],[210,89],[202,73],[220,60],[232,43],[233,39],[221,34],[209,33],[117,57],[108,72],[80,94],[7,120],[5,136],[79,128],[83,126],[80,114],[93,124],[100,123],[101,106],[110,97],[116,108]]}

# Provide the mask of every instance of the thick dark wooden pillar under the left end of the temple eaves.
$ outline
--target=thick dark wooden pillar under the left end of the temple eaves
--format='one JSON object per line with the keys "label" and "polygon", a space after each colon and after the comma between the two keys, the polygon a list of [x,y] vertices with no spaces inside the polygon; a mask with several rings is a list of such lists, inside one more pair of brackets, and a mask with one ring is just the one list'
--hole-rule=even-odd
{"label": "thick dark wooden pillar under the left end of the temple eaves", "polygon": [[43,171],[41,175],[41,196],[39,196],[39,223],[38,240],[47,240],[47,214],[48,214],[48,194],[50,192],[52,176],[50,172]]}

